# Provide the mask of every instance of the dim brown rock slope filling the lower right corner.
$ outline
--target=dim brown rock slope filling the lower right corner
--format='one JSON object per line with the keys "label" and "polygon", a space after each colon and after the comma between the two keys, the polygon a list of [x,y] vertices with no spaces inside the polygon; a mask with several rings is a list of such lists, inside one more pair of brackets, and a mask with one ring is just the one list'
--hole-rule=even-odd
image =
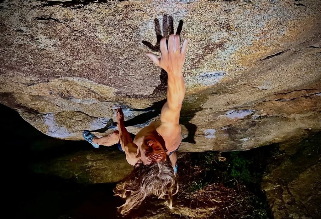
{"label": "dim brown rock slope filling the lower right corner", "polygon": [[273,217],[321,217],[321,135],[280,144],[283,153],[262,181]]}

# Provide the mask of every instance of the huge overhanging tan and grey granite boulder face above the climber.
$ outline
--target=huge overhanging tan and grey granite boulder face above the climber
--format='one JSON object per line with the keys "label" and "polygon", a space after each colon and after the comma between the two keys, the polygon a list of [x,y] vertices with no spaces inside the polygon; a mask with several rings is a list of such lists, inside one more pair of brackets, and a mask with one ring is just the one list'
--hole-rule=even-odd
{"label": "huge overhanging tan and grey granite boulder face above the climber", "polygon": [[0,9],[0,102],[49,136],[105,135],[118,106],[130,132],[157,119],[166,73],[145,53],[159,54],[171,32],[190,39],[181,151],[247,150],[321,129],[317,0],[13,0]]}

